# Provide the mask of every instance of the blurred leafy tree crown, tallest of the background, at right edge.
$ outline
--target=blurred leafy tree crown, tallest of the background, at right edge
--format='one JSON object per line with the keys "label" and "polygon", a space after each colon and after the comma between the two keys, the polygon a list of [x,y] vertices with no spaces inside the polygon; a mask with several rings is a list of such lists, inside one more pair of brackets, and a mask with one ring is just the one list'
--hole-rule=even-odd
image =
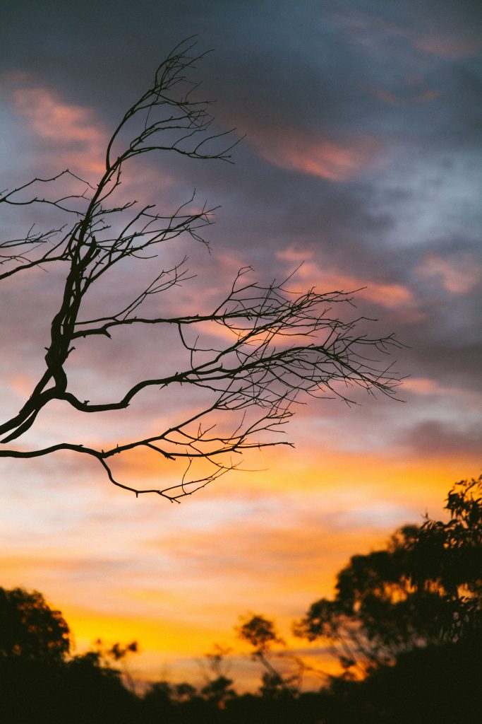
{"label": "blurred leafy tree crown, tallest of the background, at right edge", "polygon": [[482,631],[482,477],[455,484],[450,519],[396,531],[385,550],[355,555],[333,599],[314,602],[298,636],[323,639],[362,675],[420,647]]}

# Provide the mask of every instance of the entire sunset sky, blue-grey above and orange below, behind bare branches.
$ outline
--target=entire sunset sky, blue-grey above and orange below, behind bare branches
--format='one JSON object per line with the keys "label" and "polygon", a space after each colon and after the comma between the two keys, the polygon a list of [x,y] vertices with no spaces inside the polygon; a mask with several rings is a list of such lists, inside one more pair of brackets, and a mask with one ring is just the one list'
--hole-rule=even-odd
{"label": "entire sunset sky, blue-grey above and orange below, behind bare branches", "polygon": [[[216,101],[215,130],[242,137],[234,163],[160,155],[125,188],[160,208],[195,188],[219,207],[210,254],[182,240],[165,251],[187,253],[197,274],[178,302],[195,313],[243,266],[266,280],[303,262],[300,288],[363,287],[357,314],[406,345],[403,401],[309,400],[287,430],[293,449],[252,453],[253,471],[181,505],[135,499],[73,453],[1,459],[0,585],[43,592],[78,650],[137,639],[134,675],[195,680],[212,644],[238,646],[233,626],[248,611],[303,646],[290,622],[330,596],[350,555],[440,515],[451,484],[480,473],[481,26],[480,5],[455,0],[4,2],[1,189],[66,167],[95,181],[109,131],[196,34],[200,52],[212,49],[193,75]],[[53,219],[1,211],[2,235]],[[2,282],[2,418],[43,370],[61,281],[40,270]],[[90,395],[125,389],[166,345],[119,335],[79,350],[72,379]],[[146,395],[126,418],[87,422],[53,405],[25,445],[126,439],[168,420],[169,404]],[[178,474],[139,456],[121,473],[134,484]],[[255,673],[236,665],[249,686]]]}

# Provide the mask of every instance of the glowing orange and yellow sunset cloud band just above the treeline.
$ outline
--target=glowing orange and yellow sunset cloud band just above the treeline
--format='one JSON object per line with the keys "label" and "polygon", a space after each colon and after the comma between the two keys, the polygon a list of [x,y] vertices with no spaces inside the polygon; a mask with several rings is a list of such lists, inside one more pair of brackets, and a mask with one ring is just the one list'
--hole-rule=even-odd
{"label": "glowing orange and yellow sunset cloud band just above the treeline", "polygon": [[[2,531],[2,585],[46,594],[78,650],[98,636],[137,639],[132,673],[160,678],[167,665],[173,680],[192,680],[192,659],[213,642],[238,645],[239,614],[276,618],[285,635],[311,602],[332,595],[350,555],[382,546],[427,507],[440,515],[450,485],[473,474],[471,465],[301,445],[298,453],[265,451],[271,472],[233,475],[181,506],[133,501],[89,481],[75,505],[87,505],[88,516],[69,518],[68,534],[53,534],[50,523],[45,536],[32,536],[26,521],[25,535],[12,544],[8,531],[6,544]],[[50,509],[59,515],[59,500],[58,489],[46,489],[22,505],[47,519]],[[288,643],[301,645],[289,634]],[[246,685],[245,674],[235,678]]]}

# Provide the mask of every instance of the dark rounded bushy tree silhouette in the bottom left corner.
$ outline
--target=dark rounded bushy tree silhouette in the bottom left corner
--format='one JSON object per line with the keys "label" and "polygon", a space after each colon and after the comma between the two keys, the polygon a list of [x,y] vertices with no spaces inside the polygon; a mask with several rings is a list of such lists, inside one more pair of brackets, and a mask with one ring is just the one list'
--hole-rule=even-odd
{"label": "dark rounded bushy tree silhouette in the bottom left corner", "polygon": [[38,591],[0,588],[0,720],[107,724],[136,720],[139,702],[116,668],[135,642],[70,654],[69,626]]}

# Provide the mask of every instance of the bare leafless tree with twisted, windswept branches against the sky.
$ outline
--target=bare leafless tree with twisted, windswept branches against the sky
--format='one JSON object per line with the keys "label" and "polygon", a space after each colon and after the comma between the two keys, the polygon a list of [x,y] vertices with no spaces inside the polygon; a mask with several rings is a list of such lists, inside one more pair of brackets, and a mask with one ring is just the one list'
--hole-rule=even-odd
{"label": "bare leafless tree with twisted, windswept branches against the sky", "polygon": [[[360,329],[363,318],[332,316],[333,305],[351,301],[350,293],[343,291],[293,292],[288,279],[263,285],[249,280],[249,269],[241,269],[215,308],[160,314],[157,307],[157,313],[143,314],[143,305],[155,305],[159,295],[189,278],[182,258],[175,264],[159,264],[141,288],[129,290],[123,277],[125,296],[118,308],[96,308],[93,315],[86,311],[88,303],[92,306],[95,290],[118,291],[115,271],[134,271],[139,264],[151,269],[164,245],[181,235],[203,241],[202,228],[212,222],[213,209],[196,208],[194,196],[166,214],[152,203],[126,201],[121,194],[123,172],[145,153],[231,160],[232,146],[220,146],[225,134],[210,132],[209,104],[194,98],[197,85],[186,75],[197,60],[189,56],[191,47],[189,42],[176,47],[158,67],[150,87],[126,111],[108,140],[105,170],[97,182],[92,185],[66,169],[0,194],[4,206],[38,207],[66,219],[48,230],[38,231],[34,226],[25,235],[0,242],[0,281],[51,269],[60,269],[65,279],[51,319],[45,371],[20,411],[0,424],[3,445],[20,441],[39,413],[56,401],[88,417],[125,411],[145,390],[159,392],[160,400],[173,388],[180,394],[200,388],[209,397],[207,403],[199,403],[197,411],[181,418],[171,411],[172,421],[167,426],[148,436],[133,432],[131,439],[121,444],[113,444],[111,439],[98,447],[59,441],[30,449],[4,447],[0,456],[38,458],[70,450],[98,460],[113,484],[135,494],[153,492],[169,500],[179,500],[236,468],[233,455],[238,458],[253,447],[288,444],[273,439],[270,433],[288,421],[300,392],[350,401],[349,387],[392,395],[397,384],[390,367],[380,367],[373,360],[377,350],[387,352],[397,346],[393,335],[371,338]],[[62,190],[56,193],[59,184]],[[173,371],[166,363],[153,361],[150,376],[106,402],[98,389],[88,393],[90,399],[79,396],[72,389],[70,374],[76,348],[92,339],[108,342],[116,332],[134,327],[161,335],[173,330],[178,351],[184,353],[182,366]],[[111,462],[129,450],[154,452],[163,460],[184,460],[181,482],[149,489],[121,483]],[[193,472],[192,463],[199,460],[209,463],[207,472],[206,468]]]}

